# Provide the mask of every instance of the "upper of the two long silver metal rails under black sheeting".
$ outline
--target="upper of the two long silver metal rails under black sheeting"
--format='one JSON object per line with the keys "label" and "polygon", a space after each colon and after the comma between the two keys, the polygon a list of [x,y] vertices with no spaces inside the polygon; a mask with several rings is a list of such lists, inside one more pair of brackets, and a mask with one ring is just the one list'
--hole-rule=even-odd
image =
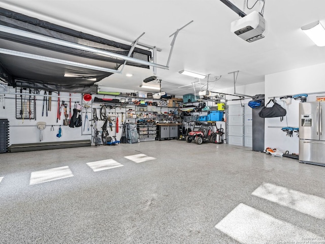
{"label": "upper of the two long silver metal rails under black sheeting", "polygon": [[[4,25],[0,25],[0,32],[5,32],[5,33],[25,37],[25,38],[36,39],[36,40],[39,40],[39,41],[44,41],[44,42],[48,42],[48,43],[52,43],[52,44],[57,44],[57,45],[60,45],[60,46],[65,46],[65,47],[70,47],[70,48],[74,48],[74,49],[78,49],[78,50],[83,50],[83,51],[99,54],[99,55],[106,56],[106,57],[115,57],[115,58],[119,58],[119,59],[122,59],[122,60],[126,60],[128,62],[140,64],[140,65],[153,66],[153,67],[157,67],[157,68],[165,69],[165,70],[169,69],[168,66],[158,65],[158,64],[150,63],[150,62],[145,61],[145,60],[141,60],[141,59],[137,59],[137,58],[133,58],[133,57],[127,57],[127,56],[124,56],[124,55],[121,55],[121,54],[117,54],[117,53],[113,53],[113,52],[109,52],[109,51],[104,51],[104,50],[93,48],[93,47],[87,47],[87,46],[84,46],[84,45],[81,45],[81,44],[72,43],[72,42],[68,42],[68,41],[64,41],[64,40],[60,40],[60,39],[56,39],[56,38],[52,38],[52,37],[46,37],[46,36],[43,36],[43,35],[22,31],[20,29],[11,28],[11,27],[4,26]],[[119,71],[115,70],[114,73],[119,73]]]}

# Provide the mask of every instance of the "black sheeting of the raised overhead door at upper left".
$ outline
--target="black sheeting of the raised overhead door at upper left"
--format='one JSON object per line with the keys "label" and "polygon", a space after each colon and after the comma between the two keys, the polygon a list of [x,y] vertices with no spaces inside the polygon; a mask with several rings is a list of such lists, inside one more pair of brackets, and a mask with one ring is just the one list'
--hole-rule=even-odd
{"label": "black sheeting of the raised overhead door at upper left", "polygon": [[[78,32],[3,8],[0,8],[0,26],[36,33],[125,56],[128,55],[131,49],[130,45]],[[124,60],[120,58],[102,56],[2,31],[0,31],[0,49],[2,51],[0,53],[0,78],[14,87],[21,85],[27,88],[57,90],[60,92],[95,93],[96,86],[94,83],[113,73],[89,69],[88,67],[96,66],[117,70],[124,63]],[[7,53],[7,50],[10,51],[10,54]],[[20,54],[28,53],[37,57],[50,57],[52,61],[48,62],[45,61],[46,59],[38,60],[15,55],[16,52]],[[135,48],[131,57],[149,61],[151,52]],[[54,63],[53,58],[67,62],[63,62],[64,64]],[[70,65],[69,62],[84,64],[86,67],[76,67]],[[126,65],[149,68],[131,62],[127,62]]]}

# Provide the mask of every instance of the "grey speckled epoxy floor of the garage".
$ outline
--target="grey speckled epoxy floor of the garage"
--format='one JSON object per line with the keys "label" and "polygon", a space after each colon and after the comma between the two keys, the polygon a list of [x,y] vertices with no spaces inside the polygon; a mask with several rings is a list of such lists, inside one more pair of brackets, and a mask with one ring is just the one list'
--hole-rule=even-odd
{"label": "grey speckled epoxy floor of the garage", "polygon": [[[123,167],[87,164],[108,159]],[[32,172],[65,166],[72,176],[29,185]],[[291,194],[321,207],[324,175],[250,148],[177,140],[0,154],[0,242],[325,243],[322,210],[300,211]],[[287,206],[252,195],[268,184],[287,189],[277,193]]]}

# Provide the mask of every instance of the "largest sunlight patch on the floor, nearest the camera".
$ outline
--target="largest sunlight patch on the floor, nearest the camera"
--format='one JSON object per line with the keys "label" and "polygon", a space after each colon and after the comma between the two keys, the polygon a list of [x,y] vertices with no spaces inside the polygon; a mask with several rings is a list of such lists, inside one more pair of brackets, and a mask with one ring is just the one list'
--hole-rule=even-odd
{"label": "largest sunlight patch on the floor, nearest the camera", "polygon": [[321,238],[243,203],[235,207],[215,228],[243,244],[301,243],[299,241],[303,238]]}

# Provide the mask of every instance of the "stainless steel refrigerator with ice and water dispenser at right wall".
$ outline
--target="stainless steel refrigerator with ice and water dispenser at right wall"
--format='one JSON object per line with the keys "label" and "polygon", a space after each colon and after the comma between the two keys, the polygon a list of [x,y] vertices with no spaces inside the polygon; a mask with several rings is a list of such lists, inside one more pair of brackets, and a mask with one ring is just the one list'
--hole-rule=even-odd
{"label": "stainless steel refrigerator with ice and water dispenser at right wall", "polygon": [[299,162],[325,166],[325,102],[299,104]]}

